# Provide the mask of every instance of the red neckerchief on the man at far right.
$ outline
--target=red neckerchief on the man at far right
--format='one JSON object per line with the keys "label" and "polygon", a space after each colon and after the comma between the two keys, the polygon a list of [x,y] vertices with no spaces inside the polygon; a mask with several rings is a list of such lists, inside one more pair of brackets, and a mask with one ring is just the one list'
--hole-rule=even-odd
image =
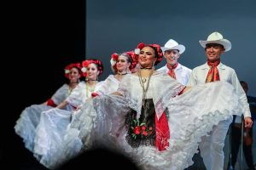
{"label": "red neckerchief on the man at far right", "polygon": [[220,59],[214,62],[207,60],[207,65],[211,66],[211,69],[208,71],[206,82],[219,81],[219,74],[218,74],[218,68],[217,68],[219,63],[220,63]]}

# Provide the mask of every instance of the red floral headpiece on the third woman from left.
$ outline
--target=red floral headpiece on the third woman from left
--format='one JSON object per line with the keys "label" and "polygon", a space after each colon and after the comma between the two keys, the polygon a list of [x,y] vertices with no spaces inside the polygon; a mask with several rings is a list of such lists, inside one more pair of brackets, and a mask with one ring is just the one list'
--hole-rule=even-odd
{"label": "red floral headpiece on the third woman from left", "polygon": [[[127,54],[130,56],[131,58],[131,65],[129,66],[129,70],[131,71],[133,68],[136,67],[137,65],[137,61],[138,61],[138,55],[135,54],[133,51],[128,51],[128,52],[125,52],[123,54]],[[111,59],[110,59],[110,63],[111,63],[111,66],[113,68],[113,71],[117,72],[117,68],[116,68],[116,61],[117,59],[119,59],[119,56],[122,55],[122,54],[112,54],[111,55]]]}

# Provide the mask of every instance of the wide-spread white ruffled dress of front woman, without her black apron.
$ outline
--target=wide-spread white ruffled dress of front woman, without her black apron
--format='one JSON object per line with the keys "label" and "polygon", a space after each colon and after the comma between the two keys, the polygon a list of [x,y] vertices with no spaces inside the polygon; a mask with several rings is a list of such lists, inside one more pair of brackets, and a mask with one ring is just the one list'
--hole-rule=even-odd
{"label": "wide-spread white ruffled dress of front woman, without her black apron", "polygon": [[140,116],[143,101],[139,77],[127,75],[118,89],[123,96],[99,96],[83,105],[73,116],[61,143],[51,150],[50,161],[44,165],[55,168],[82,151],[100,145],[119,150],[145,170],[189,167],[201,137],[218,122],[240,115],[242,108],[234,88],[227,82],[196,85],[177,95],[183,88],[166,73],[159,72],[152,75],[148,86],[146,99],[153,99],[157,119],[169,111],[171,138],[166,150],[159,151],[150,145],[132,148],[127,143],[125,116],[131,109]]}

